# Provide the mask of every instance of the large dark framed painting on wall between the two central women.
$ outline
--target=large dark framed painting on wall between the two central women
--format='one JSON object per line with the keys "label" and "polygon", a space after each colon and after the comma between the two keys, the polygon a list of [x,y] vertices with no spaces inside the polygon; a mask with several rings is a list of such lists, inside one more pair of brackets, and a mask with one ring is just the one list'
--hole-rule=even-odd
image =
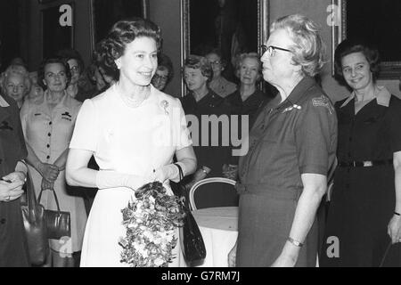
{"label": "large dark framed painting on wall between the two central women", "polygon": [[[189,54],[202,55],[211,48],[221,51],[233,76],[239,53],[261,53],[269,23],[268,0],[182,0],[181,66]],[[227,70],[226,70],[227,71]],[[186,94],[184,82],[182,94]]]}

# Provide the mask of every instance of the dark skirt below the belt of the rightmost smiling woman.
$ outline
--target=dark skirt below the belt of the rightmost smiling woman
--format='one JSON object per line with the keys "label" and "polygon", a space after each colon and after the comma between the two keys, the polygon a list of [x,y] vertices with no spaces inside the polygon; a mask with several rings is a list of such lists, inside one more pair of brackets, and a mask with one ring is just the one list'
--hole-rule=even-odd
{"label": "dark skirt below the belt of the rightmost smiling woman", "polygon": [[[395,202],[392,166],[338,168],[334,177],[320,265],[381,265],[390,243],[387,228]],[[334,248],[337,245],[334,245],[333,237],[338,241],[338,250]],[[399,247],[390,248],[385,265],[401,265]]]}

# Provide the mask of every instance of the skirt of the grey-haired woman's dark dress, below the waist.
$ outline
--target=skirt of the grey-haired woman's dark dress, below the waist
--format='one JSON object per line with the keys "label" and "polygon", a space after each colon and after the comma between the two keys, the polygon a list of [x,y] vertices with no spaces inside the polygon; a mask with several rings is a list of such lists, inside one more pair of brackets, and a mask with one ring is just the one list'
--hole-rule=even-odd
{"label": "skirt of the grey-haired woman's dark dress, below the waist", "polygon": [[[280,256],[288,239],[297,208],[297,199],[264,194],[244,194],[240,198],[238,267],[268,267]],[[296,266],[315,267],[317,223],[307,235]]]}

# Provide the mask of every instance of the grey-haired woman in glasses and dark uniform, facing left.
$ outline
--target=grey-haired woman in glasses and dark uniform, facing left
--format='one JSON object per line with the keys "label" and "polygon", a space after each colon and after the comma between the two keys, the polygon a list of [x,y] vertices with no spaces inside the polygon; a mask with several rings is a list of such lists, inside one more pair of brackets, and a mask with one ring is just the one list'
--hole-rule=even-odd
{"label": "grey-haired woman in glasses and dark uniform, facing left", "polygon": [[315,266],[316,210],[335,159],[337,119],[314,76],[323,41],[312,20],[275,20],[265,46],[263,77],[280,96],[269,102],[240,159],[239,234],[229,265]]}

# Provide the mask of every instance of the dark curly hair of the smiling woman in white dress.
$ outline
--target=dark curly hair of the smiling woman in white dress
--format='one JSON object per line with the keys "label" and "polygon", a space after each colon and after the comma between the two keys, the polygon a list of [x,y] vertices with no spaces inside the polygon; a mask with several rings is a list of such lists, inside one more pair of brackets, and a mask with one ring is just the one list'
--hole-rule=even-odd
{"label": "dark curly hair of the smiling woman in white dress", "polygon": [[151,37],[156,41],[158,50],[160,49],[160,28],[151,20],[142,18],[119,20],[110,29],[109,34],[96,45],[94,58],[98,61],[97,65],[108,74],[114,72],[119,75],[115,61],[124,54],[127,45],[136,37]]}

